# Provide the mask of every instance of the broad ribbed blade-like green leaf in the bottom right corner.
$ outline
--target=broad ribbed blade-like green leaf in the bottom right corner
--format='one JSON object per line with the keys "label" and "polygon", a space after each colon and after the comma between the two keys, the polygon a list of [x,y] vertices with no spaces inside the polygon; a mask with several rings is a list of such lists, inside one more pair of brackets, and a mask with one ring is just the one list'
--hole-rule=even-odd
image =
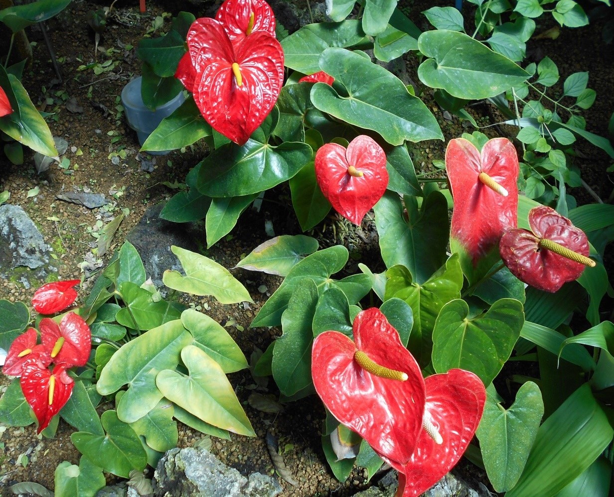
{"label": "broad ribbed blade-like green leaf in the bottom right corner", "polygon": [[599,457],[613,434],[585,383],[540,426],[523,474],[506,496],[555,495]]}

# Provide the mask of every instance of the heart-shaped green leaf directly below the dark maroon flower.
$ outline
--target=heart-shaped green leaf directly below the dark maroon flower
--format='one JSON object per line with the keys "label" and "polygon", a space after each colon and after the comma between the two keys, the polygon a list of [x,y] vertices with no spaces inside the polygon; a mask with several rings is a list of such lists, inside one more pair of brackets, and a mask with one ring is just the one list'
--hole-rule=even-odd
{"label": "heart-shaped green leaf directly below the dark maroon flower", "polygon": [[468,318],[469,306],[461,299],[443,306],[433,329],[433,368],[438,373],[460,368],[472,371],[490,385],[523,328],[523,304],[500,299],[486,314]]}

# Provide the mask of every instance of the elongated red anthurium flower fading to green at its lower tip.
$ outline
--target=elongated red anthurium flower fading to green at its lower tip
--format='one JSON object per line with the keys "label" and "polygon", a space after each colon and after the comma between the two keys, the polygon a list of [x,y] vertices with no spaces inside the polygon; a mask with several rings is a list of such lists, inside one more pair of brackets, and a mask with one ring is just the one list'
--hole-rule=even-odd
{"label": "elongated red anthurium flower fading to green at its lower tip", "polygon": [[446,171],[454,198],[451,238],[475,266],[517,226],[518,154],[507,138],[486,142],[480,153],[464,138],[450,140]]}

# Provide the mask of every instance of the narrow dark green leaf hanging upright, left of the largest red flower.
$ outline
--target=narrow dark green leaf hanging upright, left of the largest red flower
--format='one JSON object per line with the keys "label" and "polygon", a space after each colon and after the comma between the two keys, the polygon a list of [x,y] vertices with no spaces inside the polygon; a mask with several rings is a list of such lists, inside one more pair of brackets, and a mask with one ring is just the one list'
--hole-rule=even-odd
{"label": "narrow dark green leaf hanging upright, left of the largest red flower", "polygon": [[[329,290],[330,291],[330,290]],[[273,349],[273,378],[279,391],[291,396],[311,385],[311,323],[316,314],[317,287],[305,279],[281,316],[282,336]]]}

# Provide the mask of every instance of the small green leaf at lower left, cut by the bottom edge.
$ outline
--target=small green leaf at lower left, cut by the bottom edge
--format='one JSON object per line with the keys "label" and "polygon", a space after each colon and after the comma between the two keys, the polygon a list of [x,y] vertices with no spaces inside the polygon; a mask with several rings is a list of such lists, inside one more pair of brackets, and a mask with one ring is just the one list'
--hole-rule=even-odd
{"label": "small green leaf at lower left, cut by the bottom edge", "polygon": [[62,461],[55,468],[56,497],[95,497],[98,490],[106,485],[103,468],[93,464],[87,457],[81,457],[79,466]]}

